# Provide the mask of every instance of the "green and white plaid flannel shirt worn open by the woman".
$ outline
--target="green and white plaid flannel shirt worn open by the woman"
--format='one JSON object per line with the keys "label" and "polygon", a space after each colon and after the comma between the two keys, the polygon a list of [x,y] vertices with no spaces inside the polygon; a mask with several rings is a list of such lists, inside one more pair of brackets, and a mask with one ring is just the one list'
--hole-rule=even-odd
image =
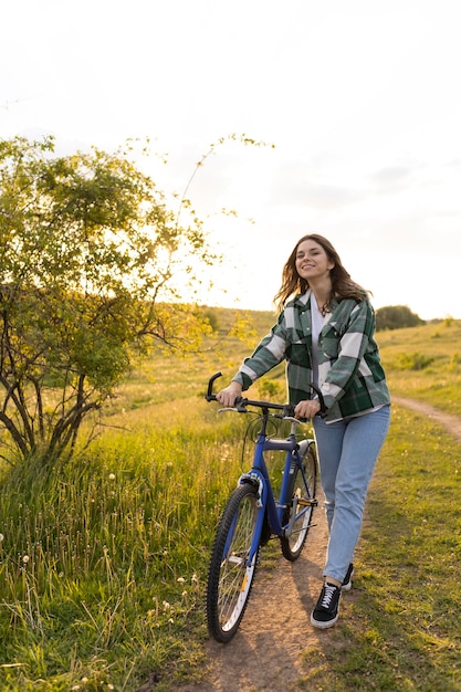
{"label": "green and white plaid flannel shirt worn open by the woman", "polygon": [[[286,360],[290,401],[311,399],[311,291],[290,301],[277,323],[233,378],[243,389]],[[375,312],[368,300],[332,303],[318,335],[318,387],[327,408],[326,420],[356,416],[390,403],[389,390],[374,338]]]}

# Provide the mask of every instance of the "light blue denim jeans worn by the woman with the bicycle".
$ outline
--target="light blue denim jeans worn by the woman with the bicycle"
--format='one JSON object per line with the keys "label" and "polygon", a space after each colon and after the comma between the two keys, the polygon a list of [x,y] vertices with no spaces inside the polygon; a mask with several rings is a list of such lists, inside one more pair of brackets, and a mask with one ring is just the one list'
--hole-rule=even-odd
{"label": "light blue denim jeans worn by the woman with the bicycle", "polygon": [[324,576],[343,581],[362,530],[365,500],[386,439],[390,407],[326,424],[313,420],[329,539]]}

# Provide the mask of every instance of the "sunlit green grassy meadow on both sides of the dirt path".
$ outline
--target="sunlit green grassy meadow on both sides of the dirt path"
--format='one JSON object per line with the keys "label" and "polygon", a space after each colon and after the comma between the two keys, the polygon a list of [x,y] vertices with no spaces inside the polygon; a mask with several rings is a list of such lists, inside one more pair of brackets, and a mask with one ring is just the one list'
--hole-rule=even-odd
{"label": "sunlit green grassy meadow on both sides of the dirt path", "polygon": [[[135,692],[199,674],[213,528],[241,470],[240,417],[203,400],[273,322],[217,311],[201,355],[127,378],[103,432],[71,463],[3,469],[0,689]],[[233,335],[235,319],[247,343]],[[461,415],[461,323],[378,335],[394,394]],[[283,400],[277,368],[260,387]],[[355,581],[331,653],[305,652],[298,689],[461,690],[460,445],[395,407]],[[168,673],[166,674],[166,671]]]}

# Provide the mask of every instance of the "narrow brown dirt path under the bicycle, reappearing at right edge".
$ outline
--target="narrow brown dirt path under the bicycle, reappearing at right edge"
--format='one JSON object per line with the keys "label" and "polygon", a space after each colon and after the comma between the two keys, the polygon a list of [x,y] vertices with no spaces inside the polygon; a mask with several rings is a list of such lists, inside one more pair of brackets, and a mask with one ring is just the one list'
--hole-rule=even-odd
{"label": "narrow brown dirt path under the bicycle, reappearing at right edge", "polygon": [[[392,401],[437,420],[461,440],[460,418],[422,401],[401,397],[394,397]],[[332,646],[333,630],[316,630],[310,622],[322,585],[327,544],[322,497],[315,521],[298,560],[289,563],[281,557],[275,568],[256,574],[247,612],[233,640],[228,644],[206,643],[206,682],[181,685],[178,692],[290,690],[291,683],[303,675],[302,653]],[[354,589],[344,595],[342,609],[346,610],[353,600]]]}

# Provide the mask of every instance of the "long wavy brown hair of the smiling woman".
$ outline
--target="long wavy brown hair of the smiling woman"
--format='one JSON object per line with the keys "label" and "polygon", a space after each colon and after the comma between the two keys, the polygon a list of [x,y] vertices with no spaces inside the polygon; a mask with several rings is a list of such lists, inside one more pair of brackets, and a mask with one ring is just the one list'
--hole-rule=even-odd
{"label": "long wavy brown hair of the smiling woman", "polygon": [[[318,243],[318,245],[322,245],[328,260],[334,263],[334,268],[329,272],[329,276],[332,279],[332,295],[329,296],[329,300],[335,297],[337,301],[342,301],[344,298],[363,301],[367,297],[368,292],[350,279],[350,274],[345,270],[338,253],[329,240],[323,235],[318,235],[317,233],[310,233],[308,235],[303,235],[303,238],[297,241],[293,252],[286,260],[283,268],[282,285],[274,297],[274,303],[279,312],[283,310],[283,306],[289,297],[302,295],[308,289],[308,281],[306,279],[302,279],[296,271],[297,248],[305,240],[313,240]],[[325,307],[328,308],[328,305],[325,305]]]}

